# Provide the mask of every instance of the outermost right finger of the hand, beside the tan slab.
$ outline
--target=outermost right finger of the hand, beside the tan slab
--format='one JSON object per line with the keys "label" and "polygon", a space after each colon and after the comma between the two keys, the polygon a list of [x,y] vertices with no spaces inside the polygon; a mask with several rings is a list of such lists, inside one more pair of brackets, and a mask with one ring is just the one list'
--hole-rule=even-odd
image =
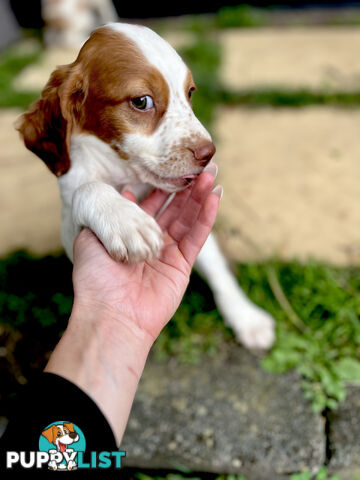
{"label": "outermost right finger of the hand, beside the tan slab", "polygon": [[179,242],[179,250],[186,262],[192,267],[196,257],[214,226],[219,208],[221,193],[211,192],[206,198],[192,228]]}

